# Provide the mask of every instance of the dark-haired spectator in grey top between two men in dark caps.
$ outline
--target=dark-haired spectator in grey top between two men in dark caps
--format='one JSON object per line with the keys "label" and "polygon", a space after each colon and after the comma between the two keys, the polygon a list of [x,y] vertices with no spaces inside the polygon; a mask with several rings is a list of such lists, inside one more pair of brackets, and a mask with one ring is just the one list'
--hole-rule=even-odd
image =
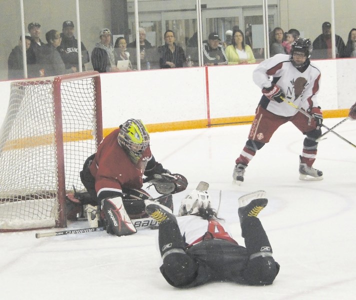
{"label": "dark-haired spectator in grey top between two men in dark caps", "polygon": [[40,64],[44,71],[43,76],[55,76],[76,72],[76,67],[65,69],[64,62],[60,57],[58,47],[60,45],[60,32],[52,29],[46,32],[45,39],[48,42],[42,46]]}

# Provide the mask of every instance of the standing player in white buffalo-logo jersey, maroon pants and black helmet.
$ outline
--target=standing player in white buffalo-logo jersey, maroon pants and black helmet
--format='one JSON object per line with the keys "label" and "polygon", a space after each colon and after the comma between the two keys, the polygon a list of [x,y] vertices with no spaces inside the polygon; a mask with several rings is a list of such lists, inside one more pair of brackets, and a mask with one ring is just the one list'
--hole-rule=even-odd
{"label": "standing player in white buffalo-logo jersey, maroon pants and black helmet", "polygon": [[[232,177],[237,184],[243,181],[245,168],[256,151],[287,121],[306,135],[299,156],[299,179],[322,179],[322,172],[312,167],[317,151],[316,139],[321,135],[322,112],[316,100],[320,71],[310,63],[311,50],[310,39],[299,37],[292,43],[289,55],[276,54],[259,63],[253,71],[253,81],[262,89],[263,95],[246,144],[235,160]],[[284,98],[306,110],[310,117],[289,105]]]}

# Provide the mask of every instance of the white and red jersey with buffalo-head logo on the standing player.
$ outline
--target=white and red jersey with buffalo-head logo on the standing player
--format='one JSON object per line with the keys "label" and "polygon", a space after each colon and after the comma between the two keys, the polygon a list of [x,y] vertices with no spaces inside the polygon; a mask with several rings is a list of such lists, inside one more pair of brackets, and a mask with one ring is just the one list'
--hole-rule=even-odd
{"label": "white and red jersey with buffalo-head logo on the standing player", "polygon": [[[309,107],[318,106],[316,94],[319,90],[320,71],[311,63],[306,69],[300,71],[292,65],[288,54],[276,54],[260,62],[252,75],[254,83],[261,89],[270,86],[270,77],[273,77],[272,81],[284,92],[285,97],[293,101],[299,108],[306,110]],[[294,94],[294,83],[298,81],[298,78],[303,82],[306,81],[305,89],[299,97],[294,99],[294,96],[298,96]],[[267,101],[266,97],[265,100]],[[281,116],[291,116],[297,113],[297,109],[286,102],[278,103],[268,100],[263,107]]]}

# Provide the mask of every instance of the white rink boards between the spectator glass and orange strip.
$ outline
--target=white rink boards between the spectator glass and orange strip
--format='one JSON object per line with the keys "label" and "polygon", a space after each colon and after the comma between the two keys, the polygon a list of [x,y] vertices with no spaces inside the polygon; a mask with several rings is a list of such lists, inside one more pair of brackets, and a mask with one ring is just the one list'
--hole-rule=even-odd
{"label": "white rink boards between the spectator glass and orange strip", "polygon": [[[349,108],[356,94],[356,59],[313,60],[321,71],[318,102],[323,110]],[[210,117],[253,115],[261,93],[252,81],[256,64],[208,67]],[[205,68],[103,73],[103,128],[135,117],[145,123],[207,117]],[[0,122],[9,99],[10,81],[0,82]]]}

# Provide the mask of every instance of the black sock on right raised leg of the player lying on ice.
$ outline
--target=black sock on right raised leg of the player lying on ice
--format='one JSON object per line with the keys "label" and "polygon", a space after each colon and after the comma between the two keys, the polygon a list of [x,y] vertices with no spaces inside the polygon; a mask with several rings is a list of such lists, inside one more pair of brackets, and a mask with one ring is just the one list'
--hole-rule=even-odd
{"label": "black sock on right raised leg of the player lying on ice", "polygon": [[256,254],[261,251],[272,252],[267,234],[262,227],[261,221],[257,217],[248,216],[243,218],[241,230],[248,255]]}

